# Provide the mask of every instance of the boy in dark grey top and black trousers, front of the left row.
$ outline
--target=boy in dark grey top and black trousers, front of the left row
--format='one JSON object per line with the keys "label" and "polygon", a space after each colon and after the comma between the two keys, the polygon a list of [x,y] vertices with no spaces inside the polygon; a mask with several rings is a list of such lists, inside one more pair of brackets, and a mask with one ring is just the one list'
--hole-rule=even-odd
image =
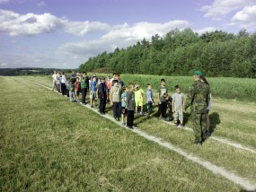
{"label": "boy in dark grey top and black trousers, front of the left row", "polygon": [[135,95],[134,95],[134,83],[129,83],[127,92],[126,108],[128,109],[127,126],[133,128],[134,110],[135,110]]}

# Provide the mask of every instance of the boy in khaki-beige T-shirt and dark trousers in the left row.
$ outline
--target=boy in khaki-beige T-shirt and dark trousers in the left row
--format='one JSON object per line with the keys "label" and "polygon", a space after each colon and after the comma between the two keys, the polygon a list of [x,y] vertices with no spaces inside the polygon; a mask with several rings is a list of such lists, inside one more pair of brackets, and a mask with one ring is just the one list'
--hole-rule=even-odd
{"label": "boy in khaki-beige T-shirt and dark trousers in the left row", "polygon": [[110,89],[110,103],[113,105],[114,118],[119,121],[121,115],[121,88],[119,80],[113,80],[113,86]]}

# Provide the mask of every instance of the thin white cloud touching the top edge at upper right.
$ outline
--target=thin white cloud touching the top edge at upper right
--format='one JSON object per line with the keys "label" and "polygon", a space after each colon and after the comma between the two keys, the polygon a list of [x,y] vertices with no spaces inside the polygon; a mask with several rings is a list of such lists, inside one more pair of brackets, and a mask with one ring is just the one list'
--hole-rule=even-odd
{"label": "thin white cloud touching the top edge at upper right", "polygon": [[205,17],[218,20],[228,13],[255,3],[255,0],[215,0],[213,4],[201,7],[201,11],[206,12]]}

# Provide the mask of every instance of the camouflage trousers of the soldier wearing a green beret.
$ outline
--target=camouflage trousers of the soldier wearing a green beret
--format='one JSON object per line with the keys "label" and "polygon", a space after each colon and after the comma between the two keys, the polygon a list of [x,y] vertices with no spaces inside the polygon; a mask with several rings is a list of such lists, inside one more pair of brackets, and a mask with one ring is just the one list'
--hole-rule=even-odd
{"label": "camouflage trousers of the soldier wearing a green beret", "polygon": [[191,113],[192,128],[195,134],[195,141],[201,142],[205,139],[207,130],[207,117],[204,113]]}

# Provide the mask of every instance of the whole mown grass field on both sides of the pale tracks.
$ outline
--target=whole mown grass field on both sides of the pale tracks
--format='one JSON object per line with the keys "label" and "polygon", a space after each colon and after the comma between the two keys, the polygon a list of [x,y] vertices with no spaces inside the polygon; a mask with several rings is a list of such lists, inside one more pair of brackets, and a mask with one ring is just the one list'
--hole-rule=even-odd
{"label": "whole mown grass field on both sides of the pale tracks", "polygon": [[[254,189],[244,188],[35,84],[50,87],[49,77],[0,80],[1,191]],[[110,105],[107,109],[111,116]],[[255,115],[255,102],[214,99],[210,113],[212,137],[255,151]],[[224,168],[256,189],[256,153],[211,137],[202,146],[192,145],[192,132],[156,118],[137,117],[136,123],[144,133]]]}

